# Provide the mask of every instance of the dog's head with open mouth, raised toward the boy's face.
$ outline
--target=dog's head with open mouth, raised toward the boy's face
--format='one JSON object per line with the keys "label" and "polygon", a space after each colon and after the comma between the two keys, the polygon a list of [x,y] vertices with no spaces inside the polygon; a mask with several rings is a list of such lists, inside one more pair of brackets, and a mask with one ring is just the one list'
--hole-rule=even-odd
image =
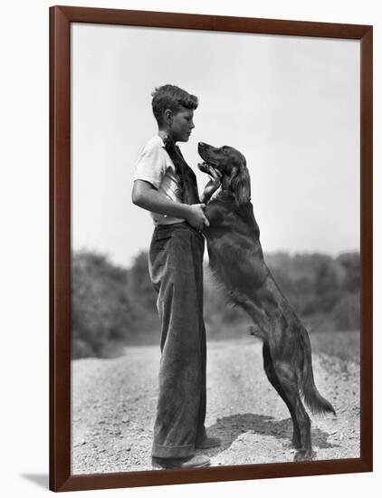
{"label": "dog's head with open mouth, raised toward the boy's face", "polygon": [[233,193],[239,206],[250,200],[251,180],[246,160],[241,152],[233,147],[217,148],[204,142],[198,143],[197,151],[205,161],[198,164],[201,171],[212,176],[214,169],[219,171],[223,189]]}

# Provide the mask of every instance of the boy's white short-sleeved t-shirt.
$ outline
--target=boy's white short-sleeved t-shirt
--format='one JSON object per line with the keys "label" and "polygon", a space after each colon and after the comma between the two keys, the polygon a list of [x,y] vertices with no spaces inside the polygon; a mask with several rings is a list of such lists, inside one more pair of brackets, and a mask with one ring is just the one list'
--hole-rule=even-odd
{"label": "boy's white short-sleeved t-shirt", "polygon": [[[141,149],[136,163],[134,180],[144,180],[157,188],[158,192],[174,202],[181,202],[177,197],[178,177],[172,159],[168,156],[163,140],[156,135],[149,139]],[[172,225],[185,221],[150,212],[154,225]]]}

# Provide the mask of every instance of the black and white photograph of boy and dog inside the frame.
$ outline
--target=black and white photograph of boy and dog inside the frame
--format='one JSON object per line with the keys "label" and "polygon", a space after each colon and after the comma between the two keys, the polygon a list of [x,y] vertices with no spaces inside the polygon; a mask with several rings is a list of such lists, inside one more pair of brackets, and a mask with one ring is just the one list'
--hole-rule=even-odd
{"label": "black and white photograph of boy and dog inside the frame", "polygon": [[359,71],[72,23],[72,474],[359,458]]}

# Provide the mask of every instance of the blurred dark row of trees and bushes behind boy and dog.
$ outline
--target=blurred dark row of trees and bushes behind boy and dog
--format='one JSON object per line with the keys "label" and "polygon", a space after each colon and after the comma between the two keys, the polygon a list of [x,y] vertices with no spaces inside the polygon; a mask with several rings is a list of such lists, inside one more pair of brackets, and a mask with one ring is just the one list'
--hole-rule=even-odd
{"label": "blurred dark row of trees and bushes behind boy and dog", "polygon": [[[358,330],[358,253],[264,257],[308,330]],[[227,304],[207,266],[204,300],[210,339],[232,337],[249,327],[250,319]],[[105,254],[72,252],[72,358],[105,357],[113,345],[158,343],[156,301],[146,252],[129,268],[111,263]]]}

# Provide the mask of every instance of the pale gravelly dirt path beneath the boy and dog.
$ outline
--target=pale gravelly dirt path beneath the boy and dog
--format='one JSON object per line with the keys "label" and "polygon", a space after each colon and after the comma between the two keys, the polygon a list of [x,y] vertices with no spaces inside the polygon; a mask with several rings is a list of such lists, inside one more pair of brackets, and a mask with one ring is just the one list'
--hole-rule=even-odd
{"label": "pale gravelly dirt path beneath the boy and dog", "polygon": [[[118,359],[72,361],[72,474],[151,470],[158,346],[132,347]],[[317,459],[359,456],[358,365],[313,356],[316,385],[338,417],[311,417]],[[208,435],[212,465],[290,462],[291,418],[263,372],[252,339],[208,343]],[[200,453],[200,452],[199,452]]]}

